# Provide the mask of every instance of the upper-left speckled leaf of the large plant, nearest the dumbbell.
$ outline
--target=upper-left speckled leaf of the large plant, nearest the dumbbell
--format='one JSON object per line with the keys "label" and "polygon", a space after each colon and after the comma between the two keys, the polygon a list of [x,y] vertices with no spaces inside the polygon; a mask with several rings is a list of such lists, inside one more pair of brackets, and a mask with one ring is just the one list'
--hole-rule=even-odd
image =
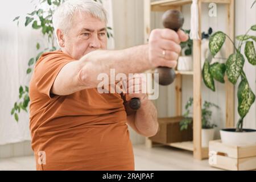
{"label": "upper-left speckled leaf of the large plant, nearest the dumbbell", "polygon": [[226,40],[226,35],[221,31],[218,31],[212,36],[210,36],[209,49],[210,49],[210,53],[212,53],[213,56],[215,56],[216,53],[220,51],[225,40]]}

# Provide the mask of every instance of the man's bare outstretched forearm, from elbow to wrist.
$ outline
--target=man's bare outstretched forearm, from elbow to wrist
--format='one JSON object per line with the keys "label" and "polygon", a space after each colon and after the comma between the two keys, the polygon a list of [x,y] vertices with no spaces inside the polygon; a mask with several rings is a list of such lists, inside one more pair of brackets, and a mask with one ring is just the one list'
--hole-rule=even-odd
{"label": "man's bare outstretched forearm, from elbow to wrist", "polygon": [[80,59],[82,63],[80,80],[86,88],[96,88],[100,73],[110,76],[110,69],[115,73],[141,73],[151,69],[148,61],[148,45],[132,47],[118,51],[93,51]]}

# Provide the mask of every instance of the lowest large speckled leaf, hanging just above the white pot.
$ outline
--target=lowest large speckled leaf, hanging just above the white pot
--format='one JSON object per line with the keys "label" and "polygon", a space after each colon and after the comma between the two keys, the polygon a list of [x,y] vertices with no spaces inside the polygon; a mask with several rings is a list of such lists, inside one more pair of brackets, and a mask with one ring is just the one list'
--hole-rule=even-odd
{"label": "lowest large speckled leaf, hanging just above the white pot", "polygon": [[250,110],[251,105],[255,101],[255,95],[246,80],[242,80],[238,86],[238,113],[241,118]]}

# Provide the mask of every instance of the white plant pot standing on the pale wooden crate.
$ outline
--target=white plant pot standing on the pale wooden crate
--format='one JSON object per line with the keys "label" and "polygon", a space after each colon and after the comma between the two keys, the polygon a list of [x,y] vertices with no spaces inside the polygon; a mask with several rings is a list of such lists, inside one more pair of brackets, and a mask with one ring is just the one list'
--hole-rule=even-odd
{"label": "white plant pot standing on the pale wooden crate", "polygon": [[233,146],[250,146],[256,144],[256,130],[243,129],[247,132],[235,132],[236,129],[220,130],[222,143]]}

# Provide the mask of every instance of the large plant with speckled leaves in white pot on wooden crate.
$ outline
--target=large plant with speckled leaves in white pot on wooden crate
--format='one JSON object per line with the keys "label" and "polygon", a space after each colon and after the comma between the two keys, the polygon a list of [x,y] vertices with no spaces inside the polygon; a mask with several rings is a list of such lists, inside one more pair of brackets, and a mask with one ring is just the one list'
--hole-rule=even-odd
{"label": "large plant with speckled leaves in white pot on wooden crate", "polygon": [[[253,93],[253,90],[251,90],[246,74],[243,71],[243,65],[246,59],[252,66],[256,65],[256,53],[254,48],[256,36],[249,35],[250,31],[256,31],[256,24],[251,26],[245,35],[236,37],[239,41],[238,46],[236,46],[224,32],[218,31],[214,33],[209,40],[209,50],[213,57],[220,51],[226,38],[233,43],[235,51],[228,57],[226,63],[210,64],[210,60],[206,60],[203,68],[204,83],[213,91],[215,91],[214,80],[224,83],[225,74],[233,85],[236,85],[238,78],[241,78],[239,80],[240,84],[238,85],[237,91],[237,111],[240,115],[240,119],[237,122],[236,128],[222,129],[220,131],[223,143],[236,146],[256,144],[256,130],[243,129],[243,119],[255,101],[255,94]],[[245,56],[243,56],[241,52],[243,45],[245,45]]]}

